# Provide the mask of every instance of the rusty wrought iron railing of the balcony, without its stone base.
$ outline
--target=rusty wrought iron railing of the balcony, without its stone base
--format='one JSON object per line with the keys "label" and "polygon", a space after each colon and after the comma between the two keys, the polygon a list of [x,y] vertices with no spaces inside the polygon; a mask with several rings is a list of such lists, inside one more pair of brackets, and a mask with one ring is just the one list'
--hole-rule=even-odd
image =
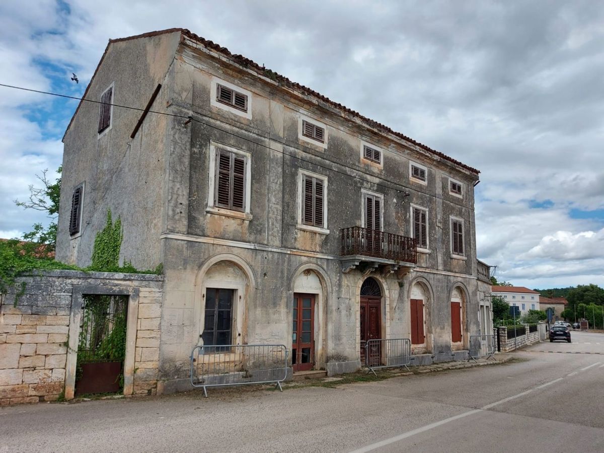
{"label": "rusty wrought iron railing of the balcony, without its stone base", "polygon": [[367,256],[385,260],[417,263],[416,240],[399,234],[384,233],[361,226],[342,228],[342,256]]}

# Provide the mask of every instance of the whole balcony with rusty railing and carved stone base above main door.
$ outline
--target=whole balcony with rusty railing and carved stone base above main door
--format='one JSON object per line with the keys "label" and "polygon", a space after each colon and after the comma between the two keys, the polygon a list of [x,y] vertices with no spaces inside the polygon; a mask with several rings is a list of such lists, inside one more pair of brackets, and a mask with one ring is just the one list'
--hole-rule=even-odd
{"label": "whole balcony with rusty railing and carved stone base above main door", "polygon": [[381,268],[384,275],[397,271],[400,277],[417,263],[416,240],[411,237],[361,226],[342,228],[341,234],[344,272],[358,268],[368,275]]}

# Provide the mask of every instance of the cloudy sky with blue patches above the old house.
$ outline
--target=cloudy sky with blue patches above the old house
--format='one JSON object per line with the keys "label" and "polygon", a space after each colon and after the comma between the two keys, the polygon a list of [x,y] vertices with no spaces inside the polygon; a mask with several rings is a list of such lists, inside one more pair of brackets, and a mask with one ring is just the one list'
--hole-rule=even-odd
{"label": "cloudy sky with blue patches above the old house", "polygon": [[[496,277],[604,285],[602,2],[3,0],[0,83],[82,95],[109,38],[172,27],[481,170]],[[16,237],[48,221],[13,200],[59,167],[76,101],[0,87],[0,108],[0,237]]]}

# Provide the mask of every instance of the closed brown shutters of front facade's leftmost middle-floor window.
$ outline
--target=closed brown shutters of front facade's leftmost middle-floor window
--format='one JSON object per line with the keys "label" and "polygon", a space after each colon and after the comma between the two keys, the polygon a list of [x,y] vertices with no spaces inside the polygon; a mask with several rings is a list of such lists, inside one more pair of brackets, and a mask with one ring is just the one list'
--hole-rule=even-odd
{"label": "closed brown shutters of front facade's leftmost middle-floor window", "polygon": [[245,211],[246,158],[225,150],[216,152],[214,205]]}

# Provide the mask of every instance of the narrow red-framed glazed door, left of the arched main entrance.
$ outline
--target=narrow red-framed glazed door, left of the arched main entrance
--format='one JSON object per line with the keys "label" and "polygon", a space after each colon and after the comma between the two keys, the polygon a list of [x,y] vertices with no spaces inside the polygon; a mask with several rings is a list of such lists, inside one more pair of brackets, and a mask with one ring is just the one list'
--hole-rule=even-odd
{"label": "narrow red-framed glazed door, left of the arched main entrance", "polygon": [[294,371],[312,370],[315,364],[315,296],[313,294],[294,294],[292,332]]}

